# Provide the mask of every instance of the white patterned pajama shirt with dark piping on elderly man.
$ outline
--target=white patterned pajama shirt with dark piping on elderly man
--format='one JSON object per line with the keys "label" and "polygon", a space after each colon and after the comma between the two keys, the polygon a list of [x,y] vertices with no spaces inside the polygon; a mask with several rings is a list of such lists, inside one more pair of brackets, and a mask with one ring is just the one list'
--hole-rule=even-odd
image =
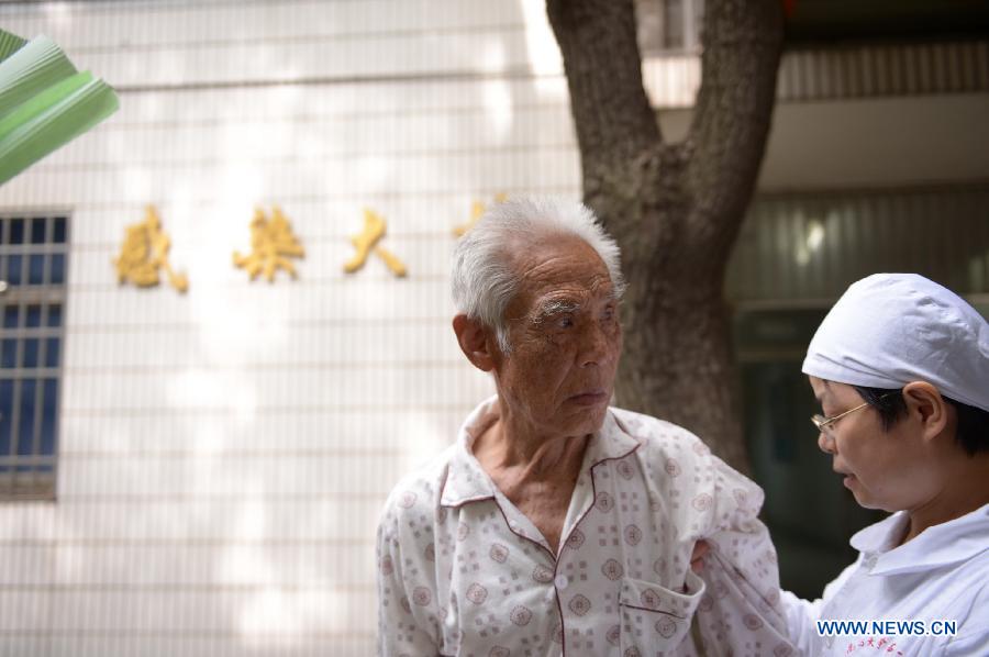
{"label": "white patterned pajama shirt with dark piping on elderly man", "polygon": [[471,454],[497,412],[484,402],[389,497],[379,655],[796,655],[755,483],[686,430],[609,409],[554,553]]}

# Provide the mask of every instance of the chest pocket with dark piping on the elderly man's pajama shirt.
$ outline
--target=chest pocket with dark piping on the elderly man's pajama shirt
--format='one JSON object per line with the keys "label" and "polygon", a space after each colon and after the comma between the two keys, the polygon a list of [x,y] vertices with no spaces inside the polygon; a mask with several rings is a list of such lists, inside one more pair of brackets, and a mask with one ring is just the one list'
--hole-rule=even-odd
{"label": "chest pocket with dark piping on the elderly man's pajama shirt", "polygon": [[693,612],[704,593],[704,582],[687,571],[687,591],[626,577],[622,579],[622,657],[646,657],[679,646],[690,633]]}

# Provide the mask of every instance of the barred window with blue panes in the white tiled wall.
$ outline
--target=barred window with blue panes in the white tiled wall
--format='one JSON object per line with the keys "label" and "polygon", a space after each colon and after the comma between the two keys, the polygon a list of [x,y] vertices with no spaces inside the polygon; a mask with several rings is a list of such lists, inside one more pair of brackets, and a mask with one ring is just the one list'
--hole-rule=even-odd
{"label": "barred window with blue panes in the white tiled wall", "polygon": [[0,214],[0,500],[55,497],[67,232]]}

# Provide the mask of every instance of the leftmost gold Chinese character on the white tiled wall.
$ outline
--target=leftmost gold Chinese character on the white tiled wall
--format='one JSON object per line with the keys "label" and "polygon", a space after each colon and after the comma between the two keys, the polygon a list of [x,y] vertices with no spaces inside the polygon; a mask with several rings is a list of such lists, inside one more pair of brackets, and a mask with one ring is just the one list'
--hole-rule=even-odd
{"label": "leftmost gold Chinese character on the white tiled wall", "polygon": [[162,220],[154,205],[148,205],[142,223],[127,226],[120,257],[113,260],[116,267],[116,281],[131,281],[140,288],[158,285],[158,269],[168,275],[168,282],[179,292],[189,289],[189,279],[185,274],[176,274],[168,263],[168,249],[171,238],[162,231]]}

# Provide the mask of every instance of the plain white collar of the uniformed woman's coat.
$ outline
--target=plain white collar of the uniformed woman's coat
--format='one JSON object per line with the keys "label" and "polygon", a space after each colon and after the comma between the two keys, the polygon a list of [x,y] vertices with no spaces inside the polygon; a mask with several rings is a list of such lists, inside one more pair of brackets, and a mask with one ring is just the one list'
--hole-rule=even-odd
{"label": "plain white collar of the uniformed woman's coat", "polygon": [[932,570],[966,561],[989,549],[989,504],[955,520],[927,527],[896,546],[908,522],[905,511],[893,513],[852,537],[852,547],[873,559],[871,575]]}

